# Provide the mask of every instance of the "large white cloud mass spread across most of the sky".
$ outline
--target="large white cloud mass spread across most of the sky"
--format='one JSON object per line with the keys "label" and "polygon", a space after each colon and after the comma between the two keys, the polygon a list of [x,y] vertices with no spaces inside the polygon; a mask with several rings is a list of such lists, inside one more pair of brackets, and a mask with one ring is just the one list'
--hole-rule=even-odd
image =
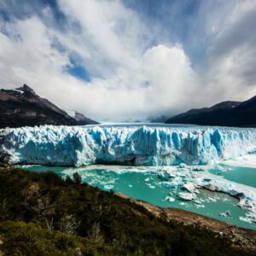
{"label": "large white cloud mass spread across most of the sky", "polygon": [[[205,65],[195,71],[181,44],[152,46],[155,31],[120,1],[59,0],[67,16],[65,30],[45,25],[44,19],[53,20],[50,9],[44,9],[43,18],[0,20],[0,84],[4,88],[29,84],[61,108],[100,120],[171,115],[245,99],[256,92],[255,36],[243,31],[244,38],[236,44],[232,38],[250,14],[254,17],[255,6],[239,4],[226,8],[232,13],[221,17],[225,26],[214,15],[206,20],[204,29],[208,27],[212,43]],[[55,40],[66,50],[53,47]],[[79,56],[90,82],[67,73],[70,55]]]}

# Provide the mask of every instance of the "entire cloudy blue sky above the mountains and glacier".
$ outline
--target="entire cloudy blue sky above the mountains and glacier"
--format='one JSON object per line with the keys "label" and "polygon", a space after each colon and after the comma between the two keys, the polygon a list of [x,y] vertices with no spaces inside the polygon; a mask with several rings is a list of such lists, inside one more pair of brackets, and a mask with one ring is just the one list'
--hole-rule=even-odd
{"label": "entire cloudy blue sky above the mountains and glacier", "polygon": [[0,87],[99,121],[256,95],[255,0],[0,0]]}

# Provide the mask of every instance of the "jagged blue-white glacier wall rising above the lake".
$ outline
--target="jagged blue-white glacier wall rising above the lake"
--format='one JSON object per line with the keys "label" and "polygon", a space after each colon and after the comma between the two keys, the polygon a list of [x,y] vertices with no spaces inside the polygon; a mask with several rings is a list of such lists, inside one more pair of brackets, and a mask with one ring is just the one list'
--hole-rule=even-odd
{"label": "jagged blue-white glacier wall rising above the lake", "polygon": [[207,165],[256,152],[256,129],[44,125],[6,128],[1,137],[12,164]]}

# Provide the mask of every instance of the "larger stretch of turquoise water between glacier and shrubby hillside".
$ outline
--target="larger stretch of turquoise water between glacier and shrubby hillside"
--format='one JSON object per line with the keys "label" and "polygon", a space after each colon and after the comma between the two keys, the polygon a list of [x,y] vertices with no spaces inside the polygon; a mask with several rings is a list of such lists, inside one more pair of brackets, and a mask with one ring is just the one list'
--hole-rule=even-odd
{"label": "larger stretch of turquoise water between glacier and shrubby hillside", "polygon": [[[24,166],[24,168],[33,172],[54,171],[60,176],[72,176],[74,172],[78,172],[84,183],[89,183],[103,190],[113,189],[115,192],[128,195],[138,200],[147,201],[158,207],[180,208],[190,212],[200,213],[211,218],[217,218],[230,224],[256,230],[256,224],[241,221],[240,217],[245,217],[245,211],[236,206],[238,201],[230,195],[201,189],[200,194],[197,196],[197,204],[195,201],[182,201],[177,197],[180,188],[170,188],[166,186],[157,172],[149,170],[131,172],[129,168],[125,169],[125,172],[115,172],[109,170],[108,166],[102,166],[100,169],[89,169],[88,167],[76,169],[50,166]],[[124,170],[124,167],[122,167],[122,170]],[[215,171],[212,170],[211,172],[214,173]],[[242,170],[240,170],[240,172],[241,171]],[[241,175],[240,178],[243,180],[245,177]],[[166,196],[171,196],[174,201],[166,201]],[[231,216],[223,217],[222,213],[227,211],[230,211]]]}

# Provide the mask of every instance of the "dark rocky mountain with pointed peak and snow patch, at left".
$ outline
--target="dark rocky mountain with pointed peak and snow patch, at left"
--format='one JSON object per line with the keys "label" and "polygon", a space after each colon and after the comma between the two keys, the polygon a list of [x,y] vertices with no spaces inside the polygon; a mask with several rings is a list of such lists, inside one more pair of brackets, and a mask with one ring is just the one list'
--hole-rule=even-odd
{"label": "dark rocky mountain with pointed peak and snow patch, at left", "polygon": [[[84,124],[95,124],[90,119]],[[38,96],[24,84],[15,90],[0,90],[0,128],[34,125],[80,125],[61,108]]]}

